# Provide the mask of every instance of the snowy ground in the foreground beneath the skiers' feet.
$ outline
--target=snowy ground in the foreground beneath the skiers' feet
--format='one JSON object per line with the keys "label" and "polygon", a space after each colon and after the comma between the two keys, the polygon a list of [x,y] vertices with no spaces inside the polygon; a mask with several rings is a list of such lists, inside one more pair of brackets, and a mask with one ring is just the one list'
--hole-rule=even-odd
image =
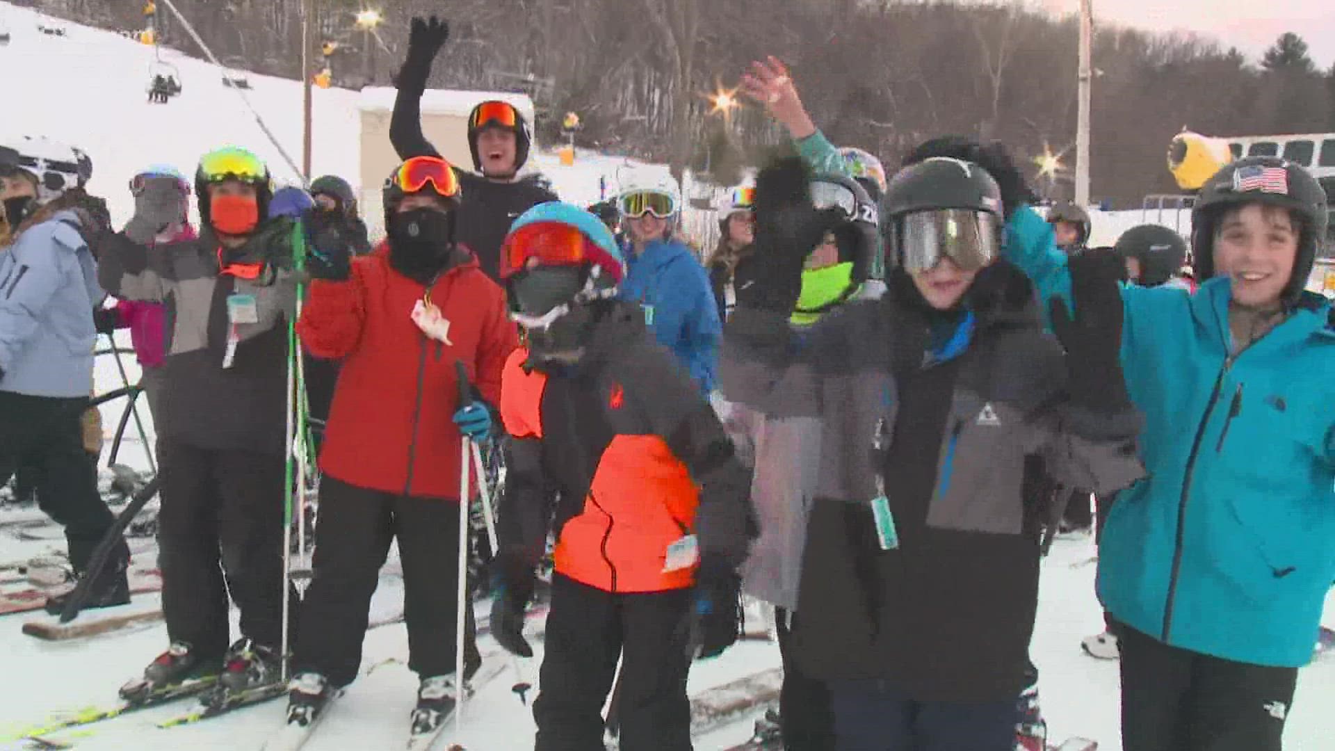
{"label": "snowy ground in the foreground beneath the skiers' feet", "polygon": [[[0,543],[0,552],[8,541]],[[1033,656],[1041,671],[1043,708],[1052,738],[1084,735],[1100,748],[1117,751],[1117,664],[1083,656],[1080,637],[1100,625],[1092,585],[1095,567],[1081,565],[1091,555],[1088,541],[1059,541],[1044,564],[1039,625]],[[399,592],[392,580],[382,585],[375,609],[392,609]],[[146,597],[146,601],[152,601]],[[1335,599],[1327,608],[1327,624],[1335,625]],[[105,704],[115,688],[136,675],[166,645],[162,624],[73,643],[43,643],[23,636],[25,616],[0,617],[0,651],[5,655],[0,702],[0,743],[24,727],[40,723],[60,710]],[[985,632],[980,632],[985,639]],[[482,651],[497,649],[483,637]],[[541,644],[539,655],[541,659]],[[386,663],[386,660],[390,660]],[[406,667],[407,639],[402,624],[374,629],[366,639],[363,673],[352,684],[311,743],[311,751],[383,748],[406,736],[406,718],[413,704],[415,679]],[[523,679],[537,684],[537,659],[519,667]],[[742,643],[714,661],[697,663],[690,690],[697,692],[778,664],[777,648]],[[473,750],[525,748],[533,738],[533,718],[511,694],[515,665],[505,668],[469,706],[466,726],[451,739]],[[541,687],[539,687],[541,688]],[[534,694],[530,694],[530,699]],[[1298,698],[1288,719],[1286,748],[1324,751],[1335,747],[1326,714],[1335,700],[1335,657],[1324,657],[1302,671]],[[162,707],[109,720],[59,738],[76,742],[80,750],[223,750],[259,748],[282,723],[282,702],[272,702],[192,727],[158,730],[155,723],[182,711]],[[696,748],[725,748],[744,740],[750,719],[698,738]],[[5,746],[0,744],[0,748]]]}

